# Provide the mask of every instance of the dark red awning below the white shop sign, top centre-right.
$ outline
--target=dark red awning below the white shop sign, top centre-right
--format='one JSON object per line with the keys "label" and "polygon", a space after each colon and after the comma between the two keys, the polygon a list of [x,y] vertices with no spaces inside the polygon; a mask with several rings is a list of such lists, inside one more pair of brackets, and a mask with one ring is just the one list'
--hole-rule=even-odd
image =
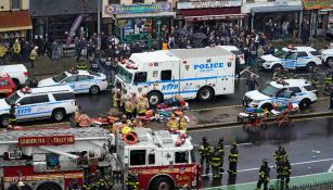
{"label": "dark red awning below the white shop sign, top centre-right", "polygon": [[187,21],[209,21],[226,20],[229,17],[244,17],[241,14],[241,7],[214,8],[214,9],[189,9],[181,10],[181,14]]}

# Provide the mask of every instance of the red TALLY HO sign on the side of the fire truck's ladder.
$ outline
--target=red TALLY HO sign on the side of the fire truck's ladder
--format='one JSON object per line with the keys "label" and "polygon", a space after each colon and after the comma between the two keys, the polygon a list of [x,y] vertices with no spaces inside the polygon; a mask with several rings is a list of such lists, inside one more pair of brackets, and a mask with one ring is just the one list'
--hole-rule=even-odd
{"label": "red TALLY HO sign on the side of the fire truck's ladder", "polygon": [[74,142],[75,139],[73,135],[18,138],[18,147],[64,145],[64,144],[74,144]]}

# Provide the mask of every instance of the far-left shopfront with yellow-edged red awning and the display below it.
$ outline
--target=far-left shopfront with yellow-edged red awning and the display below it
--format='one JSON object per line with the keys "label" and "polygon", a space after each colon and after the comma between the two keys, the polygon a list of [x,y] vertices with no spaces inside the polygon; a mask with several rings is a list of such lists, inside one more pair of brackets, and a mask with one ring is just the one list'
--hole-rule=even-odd
{"label": "far-left shopfront with yellow-edged red awning and the display below it", "polygon": [[33,24],[28,11],[0,11],[0,41],[30,39]]}

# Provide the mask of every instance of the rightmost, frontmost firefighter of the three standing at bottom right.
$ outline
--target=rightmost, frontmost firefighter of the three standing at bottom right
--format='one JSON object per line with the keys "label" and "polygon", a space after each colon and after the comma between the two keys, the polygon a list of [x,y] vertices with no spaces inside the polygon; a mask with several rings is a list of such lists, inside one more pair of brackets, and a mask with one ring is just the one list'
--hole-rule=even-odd
{"label": "rightmost, frontmost firefighter of the three standing at bottom right", "polygon": [[278,178],[281,179],[281,188],[289,189],[289,182],[291,180],[292,166],[287,160],[287,156],[281,160],[281,164],[278,167]]}

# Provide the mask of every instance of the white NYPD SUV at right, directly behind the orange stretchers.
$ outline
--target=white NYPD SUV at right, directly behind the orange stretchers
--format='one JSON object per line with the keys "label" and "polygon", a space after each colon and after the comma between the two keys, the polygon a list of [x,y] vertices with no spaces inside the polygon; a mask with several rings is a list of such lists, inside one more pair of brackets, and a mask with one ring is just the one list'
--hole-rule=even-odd
{"label": "white NYPD SUV at right, directly behind the orange stretchers", "polygon": [[307,109],[317,101],[313,86],[306,79],[286,79],[271,81],[267,87],[245,93],[243,105],[272,110],[273,104],[287,102],[297,103]]}

